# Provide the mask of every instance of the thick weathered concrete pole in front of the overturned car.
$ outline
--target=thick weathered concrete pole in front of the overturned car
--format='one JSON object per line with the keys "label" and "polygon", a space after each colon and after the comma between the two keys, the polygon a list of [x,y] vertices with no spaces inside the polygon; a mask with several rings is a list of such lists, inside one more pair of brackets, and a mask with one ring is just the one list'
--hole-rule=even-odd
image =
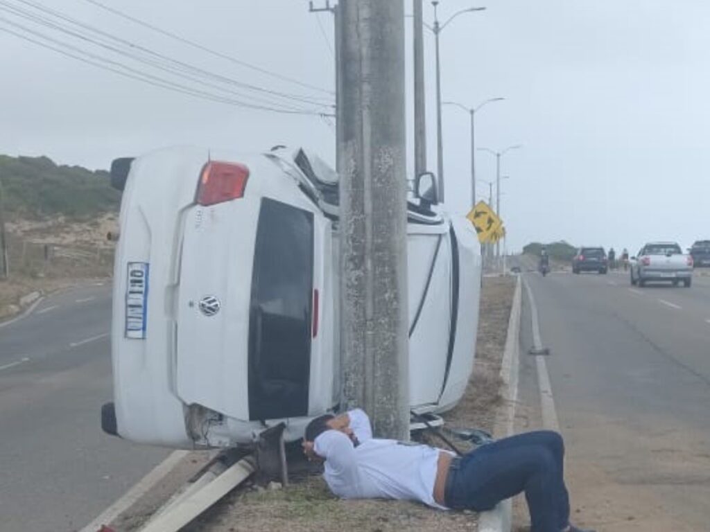
{"label": "thick weathered concrete pole in front of the overturned car", "polygon": [[404,1],[341,0],[342,406],[409,438]]}

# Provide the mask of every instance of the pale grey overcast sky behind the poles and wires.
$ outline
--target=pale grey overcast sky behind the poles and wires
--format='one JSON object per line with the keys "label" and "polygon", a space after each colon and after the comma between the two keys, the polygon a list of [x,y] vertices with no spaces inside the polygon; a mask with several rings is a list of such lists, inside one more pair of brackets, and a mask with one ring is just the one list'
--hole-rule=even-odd
{"label": "pale grey overcast sky behind the poles and wires", "polygon": [[[23,9],[35,20],[38,14],[51,18],[30,6],[37,4],[236,82],[309,100],[285,100],[232,87],[249,92],[252,103],[268,101],[273,106],[278,98],[281,108],[312,110],[311,100],[332,99],[328,92],[334,72],[332,17],[308,13],[305,0],[101,1],[182,38],[324,91],[214,57],[87,0],[0,0],[0,28],[35,40],[42,39],[40,33],[70,43],[113,60],[119,69],[129,65],[173,83],[178,79],[17,16],[16,9]],[[635,252],[645,240],[679,240],[687,246],[696,238],[710,238],[710,2],[442,0],[441,4],[442,18],[469,6],[487,7],[457,18],[442,33],[442,92],[444,99],[464,105],[506,98],[481,110],[476,128],[481,147],[524,145],[503,159],[502,173],[510,176],[501,187],[509,248],[520,249],[530,240],[565,239],[607,248],[626,246]],[[405,6],[410,13],[411,1]],[[431,17],[427,2],[425,18]],[[55,26],[70,27],[67,21],[53,21]],[[406,23],[411,74],[411,19]],[[433,45],[427,32],[432,169]],[[309,145],[334,160],[333,125],[317,115],[244,109],[176,94],[2,31],[0,64],[0,153],[48,155],[64,164],[107,168],[114,157],[165,145],[266,150],[285,143]],[[217,93],[214,87],[180,83]],[[411,107],[408,91],[408,128]],[[470,207],[470,152],[469,119],[463,111],[444,109],[444,145],[447,206],[465,214]],[[411,142],[409,149],[411,160]],[[477,155],[479,178],[494,179],[494,162],[487,153]],[[488,195],[486,185],[479,185],[479,193]]]}

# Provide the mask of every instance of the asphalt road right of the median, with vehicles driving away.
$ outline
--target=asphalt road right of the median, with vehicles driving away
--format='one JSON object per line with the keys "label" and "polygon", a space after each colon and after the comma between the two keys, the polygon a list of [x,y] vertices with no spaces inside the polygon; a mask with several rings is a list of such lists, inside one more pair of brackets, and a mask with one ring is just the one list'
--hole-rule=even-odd
{"label": "asphalt road right of the median, with vehicles driving away", "polygon": [[[710,278],[631,287],[621,274],[525,277],[576,518],[601,531],[705,531],[710,501]],[[532,345],[523,313],[523,353]],[[540,426],[535,357],[522,355],[518,428]]]}

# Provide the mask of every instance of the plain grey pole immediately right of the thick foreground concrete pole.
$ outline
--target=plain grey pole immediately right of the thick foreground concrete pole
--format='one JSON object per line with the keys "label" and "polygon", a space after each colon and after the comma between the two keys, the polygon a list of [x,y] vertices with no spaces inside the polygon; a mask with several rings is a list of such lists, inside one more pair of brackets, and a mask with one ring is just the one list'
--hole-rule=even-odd
{"label": "plain grey pole immediately right of the thick foreground concrete pole", "polygon": [[[427,171],[427,109],[424,86],[424,0],[413,0],[414,12],[414,174]],[[442,189],[439,189],[442,190]]]}

